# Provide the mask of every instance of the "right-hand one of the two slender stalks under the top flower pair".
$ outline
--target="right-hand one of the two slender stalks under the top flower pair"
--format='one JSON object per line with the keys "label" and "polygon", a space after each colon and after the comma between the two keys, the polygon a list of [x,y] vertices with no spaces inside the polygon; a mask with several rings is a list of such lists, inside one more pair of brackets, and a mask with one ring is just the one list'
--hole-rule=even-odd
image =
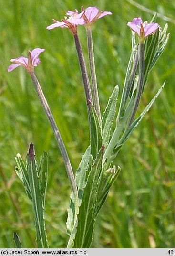
{"label": "right-hand one of the two slender stalks under the top flower pair", "polygon": [[92,87],[93,87],[94,107],[95,107],[97,116],[99,117],[99,123],[101,126],[100,103],[99,103],[97,79],[96,79],[96,72],[95,72],[93,37],[92,37],[91,28],[87,29],[87,42],[88,42],[89,63],[90,63],[90,70],[91,70],[91,81],[92,81]]}

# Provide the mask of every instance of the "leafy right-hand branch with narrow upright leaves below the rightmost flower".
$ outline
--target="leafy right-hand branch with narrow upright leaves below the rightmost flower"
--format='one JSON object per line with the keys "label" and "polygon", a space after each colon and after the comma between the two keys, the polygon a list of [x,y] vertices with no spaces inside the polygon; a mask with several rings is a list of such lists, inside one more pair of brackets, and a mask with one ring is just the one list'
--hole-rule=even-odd
{"label": "leafy right-hand branch with narrow upright leaves below the rightmost flower", "polygon": [[[156,16],[154,15],[153,21],[155,19]],[[139,42],[138,49],[135,43],[135,36],[132,32],[131,41],[133,49],[126,71],[122,98],[120,102],[118,116],[116,119],[116,127],[113,132],[113,136],[109,142],[109,145],[106,149],[106,152],[103,156],[103,163],[104,161],[107,160],[107,167],[109,166],[111,160],[113,160],[116,157],[119,150],[124,145],[126,139],[128,139],[129,136],[132,134],[134,128],[137,127],[137,124],[144,117],[144,114],[150,109],[150,107],[154,103],[154,100],[160,94],[165,85],[164,83],[164,85],[161,87],[158,93],[154,96],[154,99],[150,102],[150,104],[147,105],[147,107],[145,107],[141,116],[134,121],[134,117],[140,102],[141,95],[144,92],[144,86],[147,80],[148,73],[156,63],[158,56],[161,56],[162,52],[160,50],[160,45],[164,45],[165,48],[165,45],[168,42],[169,34],[166,36],[166,30],[167,27],[165,26],[165,32],[163,33],[163,36],[162,31],[160,29],[157,30],[153,36],[148,36],[144,44]],[[156,59],[156,61],[153,62],[154,59]],[[139,71],[137,72],[137,74],[136,69],[138,65],[138,60]]]}

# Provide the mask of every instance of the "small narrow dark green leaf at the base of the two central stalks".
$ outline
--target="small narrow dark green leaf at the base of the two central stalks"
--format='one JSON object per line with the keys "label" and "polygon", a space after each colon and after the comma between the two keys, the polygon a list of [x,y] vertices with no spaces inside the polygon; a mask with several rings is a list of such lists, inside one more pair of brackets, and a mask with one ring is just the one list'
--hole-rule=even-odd
{"label": "small narrow dark green leaf at the base of the two central stalks", "polygon": [[91,154],[93,159],[96,158],[99,149],[102,147],[102,131],[99,123],[99,117],[95,111],[95,107],[89,102],[91,117]]}

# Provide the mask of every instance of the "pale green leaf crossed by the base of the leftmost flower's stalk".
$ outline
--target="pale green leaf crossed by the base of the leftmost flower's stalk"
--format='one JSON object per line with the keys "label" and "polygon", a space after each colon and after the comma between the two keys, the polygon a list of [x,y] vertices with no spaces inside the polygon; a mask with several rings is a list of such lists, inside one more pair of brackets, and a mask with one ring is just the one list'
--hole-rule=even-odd
{"label": "pale green leaf crossed by the base of the leftmost flower's stalk", "polygon": [[[91,147],[89,146],[86,149],[86,152],[84,153],[84,155],[82,156],[82,160],[80,162],[80,165],[78,167],[77,174],[76,174],[76,184],[78,188],[79,205],[81,205],[82,203],[82,196],[83,196],[83,190],[86,184],[86,171],[88,170],[88,166],[89,166],[90,153],[91,153]],[[68,248],[72,247],[72,241],[75,237],[75,234],[74,234],[75,229],[73,229],[73,227],[76,224],[76,220],[75,220],[75,205],[74,205],[73,193],[71,194],[70,201],[71,202],[68,209],[68,218],[66,222],[67,231],[68,231],[68,234],[70,234],[70,239],[67,245]]]}

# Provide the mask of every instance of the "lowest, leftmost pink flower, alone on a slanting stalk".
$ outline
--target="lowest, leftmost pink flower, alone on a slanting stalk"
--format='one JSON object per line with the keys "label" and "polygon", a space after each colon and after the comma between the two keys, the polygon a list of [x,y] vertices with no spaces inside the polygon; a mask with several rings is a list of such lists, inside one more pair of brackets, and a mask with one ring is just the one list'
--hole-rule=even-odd
{"label": "lowest, leftmost pink flower, alone on a slanting stalk", "polygon": [[10,61],[15,62],[15,64],[12,64],[8,67],[8,72],[11,72],[13,69],[21,65],[25,67],[29,74],[31,74],[33,72],[33,67],[36,67],[37,64],[40,63],[38,55],[44,51],[45,49],[36,48],[32,51],[29,51],[29,58],[21,56],[16,59],[11,59]]}

